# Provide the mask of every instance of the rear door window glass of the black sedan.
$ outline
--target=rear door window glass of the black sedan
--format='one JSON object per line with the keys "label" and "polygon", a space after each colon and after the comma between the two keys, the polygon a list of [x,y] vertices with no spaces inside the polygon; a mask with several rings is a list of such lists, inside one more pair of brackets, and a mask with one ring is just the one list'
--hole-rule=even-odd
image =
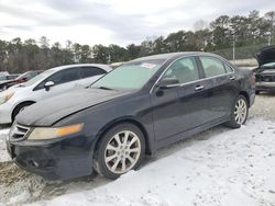
{"label": "rear door window glass of the black sedan", "polygon": [[221,60],[215,57],[200,57],[206,77],[215,77],[227,73]]}

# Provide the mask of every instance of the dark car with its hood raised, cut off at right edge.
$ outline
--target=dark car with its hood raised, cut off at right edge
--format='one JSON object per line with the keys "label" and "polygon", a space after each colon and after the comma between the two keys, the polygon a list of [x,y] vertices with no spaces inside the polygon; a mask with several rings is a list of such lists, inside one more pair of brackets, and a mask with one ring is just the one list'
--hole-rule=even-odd
{"label": "dark car with its hood raised, cut off at right edge", "polygon": [[275,92],[275,46],[267,46],[256,52],[258,67],[254,69],[256,93]]}

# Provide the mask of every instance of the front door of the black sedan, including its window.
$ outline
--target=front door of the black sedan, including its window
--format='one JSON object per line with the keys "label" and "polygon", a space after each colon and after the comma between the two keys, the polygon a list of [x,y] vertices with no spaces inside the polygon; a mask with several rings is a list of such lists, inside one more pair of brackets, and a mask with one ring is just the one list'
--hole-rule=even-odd
{"label": "front door of the black sedan, including its window", "polygon": [[178,79],[178,84],[151,93],[156,140],[169,138],[201,125],[204,90],[196,57],[176,60],[162,76]]}

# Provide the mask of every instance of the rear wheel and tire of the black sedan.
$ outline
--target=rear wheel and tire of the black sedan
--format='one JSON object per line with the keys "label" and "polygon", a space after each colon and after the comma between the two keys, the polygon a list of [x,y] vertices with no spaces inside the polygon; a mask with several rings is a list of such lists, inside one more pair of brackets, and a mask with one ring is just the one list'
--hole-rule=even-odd
{"label": "rear wheel and tire of the black sedan", "polygon": [[244,95],[239,94],[231,107],[230,121],[226,126],[231,128],[240,128],[245,124],[249,115],[249,104]]}

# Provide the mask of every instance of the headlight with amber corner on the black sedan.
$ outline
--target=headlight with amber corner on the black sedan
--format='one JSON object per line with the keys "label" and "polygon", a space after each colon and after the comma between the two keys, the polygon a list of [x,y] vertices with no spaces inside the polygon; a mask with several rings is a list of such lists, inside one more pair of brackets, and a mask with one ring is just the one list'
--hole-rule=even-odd
{"label": "headlight with amber corner on the black sedan", "polygon": [[82,130],[84,124],[69,125],[65,127],[36,127],[32,130],[28,139],[31,140],[45,140],[55,139],[66,135],[73,135]]}

